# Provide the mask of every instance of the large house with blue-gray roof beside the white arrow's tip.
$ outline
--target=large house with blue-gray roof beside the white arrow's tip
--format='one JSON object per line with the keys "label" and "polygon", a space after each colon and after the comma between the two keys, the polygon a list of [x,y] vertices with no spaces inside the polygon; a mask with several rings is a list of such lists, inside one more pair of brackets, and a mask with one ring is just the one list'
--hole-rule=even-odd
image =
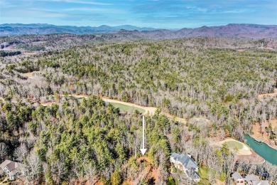
{"label": "large house with blue-gray roof beside the white arrow's tip", "polygon": [[172,153],[170,155],[170,162],[175,166],[176,169],[183,171],[193,181],[200,181],[200,176],[197,174],[197,163],[190,156],[186,154]]}

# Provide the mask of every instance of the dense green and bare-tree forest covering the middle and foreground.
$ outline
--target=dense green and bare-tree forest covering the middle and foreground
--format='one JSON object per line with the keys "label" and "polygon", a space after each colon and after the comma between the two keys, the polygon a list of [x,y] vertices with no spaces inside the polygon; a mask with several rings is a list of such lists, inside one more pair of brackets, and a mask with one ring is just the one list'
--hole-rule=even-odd
{"label": "dense green and bare-tree forest covering the middle and foreground", "polygon": [[[277,88],[277,52],[215,47],[247,42],[114,41],[1,57],[1,160],[23,156],[29,184],[149,184],[149,174],[143,173],[147,165],[136,160],[141,155],[141,114],[120,112],[99,98],[104,96],[158,107],[155,115],[146,116],[146,156],[159,171],[158,184],[170,182],[170,152],[190,153],[210,171],[201,184],[215,179],[229,184],[229,175],[238,168],[235,155],[207,138],[219,134],[244,142],[254,122],[263,125],[277,117],[277,97],[257,98]],[[31,78],[23,75],[33,71]],[[42,106],[43,101],[55,103]],[[193,122],[199,117],[206,124]],[[277,167],[268,162],[239,167],[260,175],[267,171],[271,175],[266,178],[277,181]]]}

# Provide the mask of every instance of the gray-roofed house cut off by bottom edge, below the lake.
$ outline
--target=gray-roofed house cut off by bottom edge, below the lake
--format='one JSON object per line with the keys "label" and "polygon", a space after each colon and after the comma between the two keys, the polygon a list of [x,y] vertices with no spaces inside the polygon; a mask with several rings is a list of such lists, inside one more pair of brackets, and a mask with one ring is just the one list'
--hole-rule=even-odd
{"label": "gray-roofed house cut off by bottom edge, below the lake", "polygon": [[232,178],[237,185],[248,184],[248,185],[269,185],[268,181],[260,181],[254,174],[248,174],[242,177],[238,172],[232,174]]}

